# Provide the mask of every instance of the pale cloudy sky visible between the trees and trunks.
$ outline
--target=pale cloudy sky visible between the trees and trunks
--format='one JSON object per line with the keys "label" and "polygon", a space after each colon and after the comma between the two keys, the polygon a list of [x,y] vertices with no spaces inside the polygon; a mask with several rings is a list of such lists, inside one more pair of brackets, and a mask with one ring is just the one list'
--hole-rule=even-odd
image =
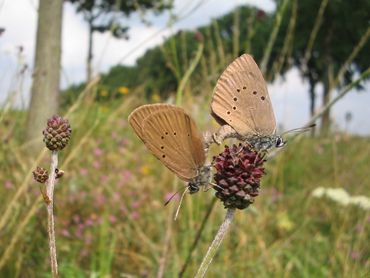
{"label": "pale cloudy sky visible between the trees and trunks", "polygon": [[[166,28],[168,13],[150,16],[150,26],[143,24],[138,15],[131,16],[127,20],[130,25],[129,40],[118,40],[108,33],[94,35],[94,71],[106,72],[117,64],[133,65],[148,48],[160,44],[178,30],[192,30],[206,25],[212,18],[242,4],[254,5],[265,11],[275,9],[272,0],[175,0],[175,14],[185,17],[171,28]],[[29,101],[37,6],[37,0],[0,0],[0,28],[5,28],[0,36],[0,103],[9,96],[17,97],[18,105],[23,107]],[[88,30],[82,16],[75,13],[71,4],[64,5],[63,13],[61,87],[65,88],[85,79]],[[28,67],[24,78],[19,78],[16,73],[25,64]],[[279,124],[290,129],[302,126],[308,120],[308,84],[297,70],[291,70],[284,79],[275,80],[268,88]],[[332,117],[340,129],[370,135],[369,84],[365,88],[361,92],[350,92],[335,105]],[[21,91],[22,96],[10,94],[17,91]],[[320,93],[318,99],[321,99]],[[348,126],[345,123],[347,112],[352,114]]]}

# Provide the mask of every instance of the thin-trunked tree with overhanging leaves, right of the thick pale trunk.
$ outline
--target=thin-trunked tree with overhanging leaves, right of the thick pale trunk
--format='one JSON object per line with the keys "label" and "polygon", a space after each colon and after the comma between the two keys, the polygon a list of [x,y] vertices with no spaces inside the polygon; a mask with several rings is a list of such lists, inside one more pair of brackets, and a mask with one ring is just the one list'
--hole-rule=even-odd
{"label": "thin-trunked tree with overhanging leaves, right of the thick pale trunk", "polygon": [[116,38],[128,39],[129,27],[123,22],[131,13],[144,16],[148,10],[160,13],[172,7],[170,0],[69,0],[82,13],[89,28],[86,80],[91,79],[93,59],[93,34],[110,31]]}

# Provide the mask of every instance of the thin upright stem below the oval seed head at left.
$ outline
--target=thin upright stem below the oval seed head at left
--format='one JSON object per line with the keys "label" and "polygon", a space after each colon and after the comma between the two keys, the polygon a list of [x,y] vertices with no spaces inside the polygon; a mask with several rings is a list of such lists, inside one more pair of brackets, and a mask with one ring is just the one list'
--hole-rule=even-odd
{"label": "thin upright stem below the oval seed head at left", "polygon": [[57,262],[57,249],[55,245],[55,230],[54,230],[54,187],[55,187],[55,170],[58,166],[58,152],[53,151],[51,154],[50,175],[48,179],[48,186],[46,193],[49,198],[49,203],[46,205],[48,212],[48,235],[49,235],[49,249],[50,249],[50,264],[51,274],[53,278],[58,277],[58,262]]}

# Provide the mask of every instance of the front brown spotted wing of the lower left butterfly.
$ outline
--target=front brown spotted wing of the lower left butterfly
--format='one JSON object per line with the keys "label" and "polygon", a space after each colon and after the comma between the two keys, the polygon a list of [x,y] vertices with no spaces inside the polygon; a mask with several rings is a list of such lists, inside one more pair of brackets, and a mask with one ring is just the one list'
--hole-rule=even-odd
{"label": "front brown spotted wing of the lower left butterfly", "polygon": [[178,107],[155,112],[142,127],[145,145],[167,168],[191,181],[205,163],[203,139],[195,122]]}

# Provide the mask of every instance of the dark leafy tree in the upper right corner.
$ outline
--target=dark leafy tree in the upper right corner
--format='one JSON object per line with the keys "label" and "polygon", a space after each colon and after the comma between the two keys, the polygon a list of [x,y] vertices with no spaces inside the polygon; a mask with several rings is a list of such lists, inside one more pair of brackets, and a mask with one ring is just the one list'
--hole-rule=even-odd
{"label": "dark leafy tree in the upper right corner", "polygon": [[[326,104],[335,88],[343,88],[369,67],[370,2],[301,0],[297,5],[292,55],[294,65],[309,80],[310,111],[314,114],[319,83]],[[329,129],[330,110],[323,115],[322,134]]]}

